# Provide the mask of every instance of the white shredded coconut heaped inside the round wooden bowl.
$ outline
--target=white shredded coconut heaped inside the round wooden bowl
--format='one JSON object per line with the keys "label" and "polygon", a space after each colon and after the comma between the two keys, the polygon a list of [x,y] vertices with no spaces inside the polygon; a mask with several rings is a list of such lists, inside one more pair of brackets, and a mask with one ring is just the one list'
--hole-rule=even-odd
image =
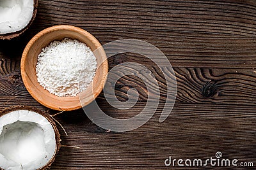
{"label": "white shredded coconut heaped inside the round wooden bowl", "polygon": [[42,49],[36,64],[37,81],[56,96],[77,96],[95,76],[92,50],[76,39],[52,41]]}

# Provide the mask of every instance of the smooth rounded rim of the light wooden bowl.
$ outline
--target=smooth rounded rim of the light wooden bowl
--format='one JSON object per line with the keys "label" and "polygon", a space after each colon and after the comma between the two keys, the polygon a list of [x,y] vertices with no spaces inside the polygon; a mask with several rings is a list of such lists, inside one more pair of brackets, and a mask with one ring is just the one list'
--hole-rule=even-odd
{"label": "smooth rounded rim of the light wooden bowl", "polygon": [[[28,78],[26,76],[27,74],[25,71],[25,61],[26,61],[26,58],[28,57],[28,53],[29,53],[31,46],[33,46],[35,41],[37,41],[42,36],[44,36],[44,34],[48,34],[53,31],[60,31],[60,30],[75,31],[75,32],[78,32],[79,34],[84,34],[84,36],[86,36],[88,39],[90,39],[90,41],[92,41],[92,43],[96,46],[96,49],[102,47],[102,45],[99,43],[99,41],[92,34],[90,34],[90,32],[87,32],[84,29],[81,29],[79,27],[75,27],[72,25],[55,25],[52,27],[47,27],[46,29],[38,32],[33,38],[31,38],[31,40],[28,42],[28,44],[24,48],[24,51],[22,53],[22,57],[20,60],[20,73],[21,73],[22,81],[23,81],[26,89],[28,90],[29,94],[36,101],[38,101],[38,103],[46,106],[47,108],[51,108],[53,110],[72,111],[72,110],[77,110],[79,108],[82,108],[82,104],[81,104],[80,100],[77,105],[66,107],[66,108],[59,108],[59,107],[53,106],[52,104],[47,103],[47,101],[41,100],[40,97],[37,97],[36,94],[34,94],[31,91],[31,86],[28,83]],[[97,87],[97,89],[93,90],[93,97],[90,97],[90,100],[85,104],[85,106],[92,103],[92,101],[94,99],[96,99],[97,96],[99,96],[100,92],[102,91],[102,89],[104,88],[104,85],[106,83],[106,79],[107,79],[107,75],[108,75],[108,67],[109,67],[108,66],[108,57],[106,56],[106,52],[104,51],[103,48],[102,48],[102,52],[103,52],[102,53],[103,62],[101,64],[104,64],[104,67],[102,69],[103,73],[102,73],[102,78],[100,80],[100,85],[99,85],[99,87]],[[94,93],[94,91],[97,91],[97,93]],[[79,94],[77,94],[77,96],[79,97]]]}

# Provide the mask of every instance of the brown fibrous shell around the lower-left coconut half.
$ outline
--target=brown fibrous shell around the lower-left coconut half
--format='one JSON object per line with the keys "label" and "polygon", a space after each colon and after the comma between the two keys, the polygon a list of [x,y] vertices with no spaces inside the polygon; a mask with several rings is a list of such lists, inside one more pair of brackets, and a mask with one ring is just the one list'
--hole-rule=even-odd
{"label": "brown fibrous shell around the lower-left coconut half", "polygon": [[[0,111],[0,117],[2,117],[3,115],[6,115],[6,114],[8,114],[8,113],[10,113],[12,111],[17,111],[17,110],[34,111],[35,113],[38,113],[38,114],[42,115],[43,117],[45,117],[50,122],[50,124],[52,125],[52,127],[54,129],[54,132],[55,132],[56,150],[55,150],[55,153],[54,153],[53,157],[51,158],[51,160],[49,160],[49,162],[44,167],[41,167],[38,170],[48,169],[51,166],[52,162],[54,162],[54,160],[56,158],[56,155],[59,152],[60,146],[61,146],[61,143],[60,143],[61,142],[60,132],[58,131],[57,126],[56,126],[54,120],[51,118],[51,116],[49,114],[44,113],[41,110],[38,110],[38,109],[33,108],[33,107],[29,107],[29,106],[13,106],[13,107],[6,108],[3,111]],[[4,170],[4,169],[2,169],[0,167],[0,170]]]}

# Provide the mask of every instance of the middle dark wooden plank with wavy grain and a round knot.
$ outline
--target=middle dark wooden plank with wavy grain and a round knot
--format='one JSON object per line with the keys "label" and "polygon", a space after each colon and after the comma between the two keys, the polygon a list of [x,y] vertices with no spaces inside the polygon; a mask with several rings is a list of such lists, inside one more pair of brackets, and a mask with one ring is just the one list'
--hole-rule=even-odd
{"label": "middle dark wooden plank with wavy grain and a round knot", "polygon": [[[112,63],[124,62],[122,57],[113,59]],[[33,101],[24,87],[19,71],[19,60],[1,59],[1,82],[0,96],[3,103],[8,101],[4,96],[23,97],[24,101]],[[127,59],[125,62],[132,61]],[[163,77],[163,70],[168,76],[173,76],[166,67],[157,67],[152,62],[138,60],[148,67],[159,83],[161,101],[166,101],[166,80]],[[110,69],[115,66],[110,65]],[[131,71],[132,70],[131,68]],[[220,104],[246,104],[254,105],[256,73],[251,69],[208,69],[208,68],[186,68],[174,67],[177,79],[176,103],[220,103]],[[148,77],[145,71],[139,71],[141,75]],[[148,80],[150,81],[150,80]],[[208,84],[208,86],[207,86]],[[109,87],[111,85],[107,83]],[[112,85],[113,86],[113,85]],[[127,91],[131,88],[138,90],[140,101],[147,101],[148,92],[143,81],[136,76],[124,76],[116,82],[115,94],[120,101],[127,101]],[[153,97],[157,99],[156,89],[152,90]],[[103,93],[100,97],[104,97]],[[22,101],[22,100],[21,100]],[[22,101],[22,103],[24,103]],[[26,104],[26,103],[24,103]]]}

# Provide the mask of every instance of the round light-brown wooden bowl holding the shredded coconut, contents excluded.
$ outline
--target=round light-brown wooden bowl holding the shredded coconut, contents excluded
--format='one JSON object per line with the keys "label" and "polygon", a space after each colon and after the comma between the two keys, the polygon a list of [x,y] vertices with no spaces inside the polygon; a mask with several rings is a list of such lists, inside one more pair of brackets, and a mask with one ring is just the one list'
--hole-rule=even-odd
{"label": "round light-brown wooden bowl holding the shredded coconut, contents excluded", "polygon": [[[38,83],[36,76],[36,63],[42,48],[49,45],[51,41],[63,38],[77,39],[85,43],[91,48],[97,60],[97,70],[92,83],[74,97],[58,97],[50,94]],[[102,91],[108,74],[106,53],[99,47],[101,47],[99,41],[92,34],[78,27],[58,25],[44,29],[29,41],[22,54],[20,70],[26,89],[36,101],[53,110],[70,111],[90,104]],[[94,52],[97,48],[99,48],[97,52]]]}

